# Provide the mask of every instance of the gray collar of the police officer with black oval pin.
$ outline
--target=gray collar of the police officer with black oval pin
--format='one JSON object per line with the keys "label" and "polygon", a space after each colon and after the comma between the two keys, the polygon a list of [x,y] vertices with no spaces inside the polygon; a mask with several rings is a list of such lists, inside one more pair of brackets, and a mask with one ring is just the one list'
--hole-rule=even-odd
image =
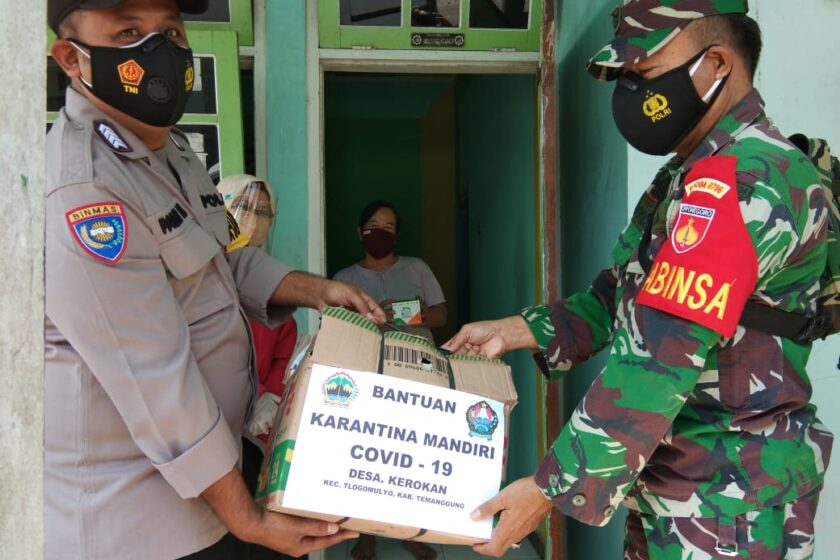
{"label": "gray collar of the police officer with black oval pin", "polygon": [[97,109],[72,87],[67,88],[64,111],[69,120],[89,126],[96,137],[94,141],[102,142],[117,155],[128,159],[152,156],[149,148],[133,132]]}

